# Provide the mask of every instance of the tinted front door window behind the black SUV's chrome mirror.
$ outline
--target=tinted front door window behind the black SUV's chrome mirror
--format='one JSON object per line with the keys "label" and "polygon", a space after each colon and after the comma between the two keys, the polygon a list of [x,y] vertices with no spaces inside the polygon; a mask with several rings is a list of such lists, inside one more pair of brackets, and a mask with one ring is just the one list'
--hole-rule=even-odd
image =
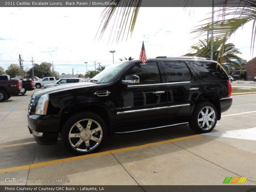
{"label": "tinted front door window behind the black SUV's chrome mirror", "polygon": [[126,73],[126,76],[127,75],[139,76],[140,84],[161,83],[160,73],[156,62],[146,62],[145,65],[136,62],[134,63],[134,67]]}

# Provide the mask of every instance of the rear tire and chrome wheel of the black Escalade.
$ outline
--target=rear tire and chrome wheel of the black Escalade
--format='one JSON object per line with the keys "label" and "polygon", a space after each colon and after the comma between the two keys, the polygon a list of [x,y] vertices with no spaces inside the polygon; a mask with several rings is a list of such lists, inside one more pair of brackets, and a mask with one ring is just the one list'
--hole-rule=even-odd
{"label": "rear tire and chrome wheel of the black Escalade", "polygon": [[210,102],[197,103],[189,121],[189,126],[197,133],[211,132],[218,119],[217,109]]}

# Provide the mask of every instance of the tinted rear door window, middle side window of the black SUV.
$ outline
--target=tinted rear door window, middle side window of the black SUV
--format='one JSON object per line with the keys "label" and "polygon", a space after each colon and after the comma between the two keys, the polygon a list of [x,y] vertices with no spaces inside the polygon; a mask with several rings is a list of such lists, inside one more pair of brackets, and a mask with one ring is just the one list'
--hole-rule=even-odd
{"label": "tinted rear door window, middle side window of the black SUV", "polygon": [[164,66],[169,83],[190,81],[192,78],[187,65],[183,62],[164,62]]}

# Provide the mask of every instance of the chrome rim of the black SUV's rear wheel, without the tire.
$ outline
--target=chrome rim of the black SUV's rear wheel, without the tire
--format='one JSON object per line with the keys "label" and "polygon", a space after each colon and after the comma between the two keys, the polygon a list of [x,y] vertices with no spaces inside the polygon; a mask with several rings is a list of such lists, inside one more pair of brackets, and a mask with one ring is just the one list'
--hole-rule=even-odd
{"label": "chrome rim of the black SUV's rear wheel, without the tire", "polygon": [[216,121],[216,114],[212,107],[205,106],[201,109],[198,115],[198,125],[203,130],[209,130],[212,128]]}

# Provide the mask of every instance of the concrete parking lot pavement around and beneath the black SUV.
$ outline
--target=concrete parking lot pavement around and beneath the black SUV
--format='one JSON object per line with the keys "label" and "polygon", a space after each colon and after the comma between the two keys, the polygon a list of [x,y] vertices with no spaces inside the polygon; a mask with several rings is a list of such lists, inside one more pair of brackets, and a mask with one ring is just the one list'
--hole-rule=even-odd
{"label": "concrete parking lot pavement around and beneath the black SUV", "polygon": [[232,96],[211,133],[184,125],[113,135],[100,152],[75,157],[61,140],[34,141],[27,128],[31,94],[0,103],[0,185],[26,185],[7,177],[40,179],[27,185],[222,185],[226,177],[247,177],[244,185],[256,185],[256,94]]}

